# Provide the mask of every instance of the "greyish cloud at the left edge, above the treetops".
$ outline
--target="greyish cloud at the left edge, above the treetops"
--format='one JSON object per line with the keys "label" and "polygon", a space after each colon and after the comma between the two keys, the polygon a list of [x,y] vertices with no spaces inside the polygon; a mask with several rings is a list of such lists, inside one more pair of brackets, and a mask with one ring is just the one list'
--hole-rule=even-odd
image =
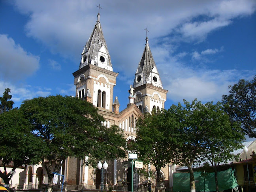
{"label": "greyish cloud at the left edge, above the treetops", "polygon": [[0,34],[0,75],[6,81],[24,79],[39,68],[38,56],[32,55],[15,43],[12,38]]}

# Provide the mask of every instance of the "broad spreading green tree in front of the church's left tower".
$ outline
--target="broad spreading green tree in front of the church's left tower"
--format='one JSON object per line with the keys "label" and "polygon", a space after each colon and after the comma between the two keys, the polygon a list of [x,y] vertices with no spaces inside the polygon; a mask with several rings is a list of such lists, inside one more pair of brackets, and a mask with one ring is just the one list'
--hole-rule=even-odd
{"label": "broad spreading green tree in front of the church's left tower", "polygon": [[96,165],[98,160],[124,157],[125,139],[117,126],[106,128],[104,118],[91,103],[69,96],[49,96],[26,100],[20,109],[30,121],[32,132],[42,141],[41,161],[53,186],[68,156]]}

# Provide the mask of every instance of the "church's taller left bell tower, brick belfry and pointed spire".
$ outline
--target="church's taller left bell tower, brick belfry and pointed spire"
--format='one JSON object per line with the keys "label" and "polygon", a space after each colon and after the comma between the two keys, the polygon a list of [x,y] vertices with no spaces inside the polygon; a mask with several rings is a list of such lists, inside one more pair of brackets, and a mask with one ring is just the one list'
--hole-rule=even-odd
{"label": "church's taller left bell tower, brick belfry and pointed spire", "polygon": [[113,72],[100,24],[100,12],[97,17],[92,34],[82,51],[79,69],[73,73],[74,85],[76,97],[112,112],[113,87],[118,73]]}

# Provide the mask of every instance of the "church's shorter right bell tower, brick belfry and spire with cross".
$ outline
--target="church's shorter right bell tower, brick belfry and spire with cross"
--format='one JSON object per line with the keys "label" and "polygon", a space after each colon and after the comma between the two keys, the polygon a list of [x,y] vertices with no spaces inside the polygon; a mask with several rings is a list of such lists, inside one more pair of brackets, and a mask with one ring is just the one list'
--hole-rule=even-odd
{"label": "church's shorter right bell tower, brick belfry and spire with cross", "polygon": [[[147,29],[145,30],[148,32]],[[149,48],[148,37],[146,37],[146,46],[135,73],[133,88],[134,103],[142,113],[151,112],[153,108],[156,110],[164,108],[168,90],[163,89],[160,75]]]}

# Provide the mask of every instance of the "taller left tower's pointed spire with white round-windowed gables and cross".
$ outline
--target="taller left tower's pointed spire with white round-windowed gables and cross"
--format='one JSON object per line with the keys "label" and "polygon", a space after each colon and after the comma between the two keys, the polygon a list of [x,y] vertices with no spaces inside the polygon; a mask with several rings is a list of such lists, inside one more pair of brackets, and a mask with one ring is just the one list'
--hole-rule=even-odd
{"label": "taller left tower's pointed spire with white round-windowed gables and cross", "polygon": [[97,7],[99,8],[97,15],[98,19],[92,30],[92,34],[83,49],[79,69],[88,64],[92,64],[113,71],[111,57],[100,24],[100,9],[102,8],[100,7],[100,4]]}

